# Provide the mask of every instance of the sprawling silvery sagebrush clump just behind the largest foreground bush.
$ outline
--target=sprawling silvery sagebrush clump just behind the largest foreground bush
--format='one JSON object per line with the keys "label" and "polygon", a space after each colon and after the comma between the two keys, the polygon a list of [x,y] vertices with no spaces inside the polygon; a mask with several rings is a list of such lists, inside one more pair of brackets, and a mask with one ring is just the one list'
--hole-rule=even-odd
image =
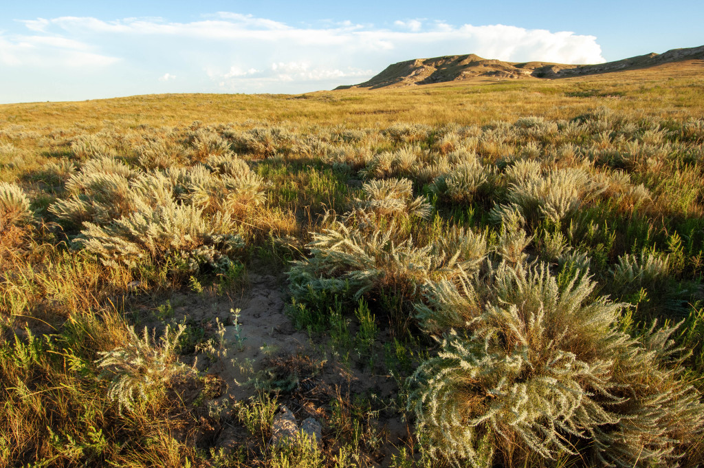
{"label": "sprawling silvery sagebrush clump just behind the largest foreground bush", "polygon": [[455,227],[446,237],[418,245],[410,236],[399,237],[393,221],[367,221],[355,227],[333,218],[327,230],[313,234],[306,245],[312,257],[294,261],[288,273],[296,300],[322,292],[353,300],[393,293],[410,309],[427,283],[471,276],[486,257],[486,237],[472,230]]}

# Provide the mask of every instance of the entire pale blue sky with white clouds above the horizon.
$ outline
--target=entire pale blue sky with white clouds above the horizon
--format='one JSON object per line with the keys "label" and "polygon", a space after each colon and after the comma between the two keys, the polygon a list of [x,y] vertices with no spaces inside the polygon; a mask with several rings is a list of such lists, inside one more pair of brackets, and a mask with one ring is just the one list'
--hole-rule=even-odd
{"label": "entire pale blue sky with white clouds above the horizon", "polygon": [[601,63],[704,45],[703,0],[0,0],[0,103],[303,93],[413,58]]}

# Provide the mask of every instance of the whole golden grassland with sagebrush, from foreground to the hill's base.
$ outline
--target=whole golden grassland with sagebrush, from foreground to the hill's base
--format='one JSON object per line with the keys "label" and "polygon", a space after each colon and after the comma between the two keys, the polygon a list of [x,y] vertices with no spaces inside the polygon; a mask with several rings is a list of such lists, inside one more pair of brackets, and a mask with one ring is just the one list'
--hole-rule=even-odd
{"label": "whole golden grassland with sagebrush, from foreground to the hill's base", "polygon": [[0,466],[704,462],[703,76],[0,106]]}

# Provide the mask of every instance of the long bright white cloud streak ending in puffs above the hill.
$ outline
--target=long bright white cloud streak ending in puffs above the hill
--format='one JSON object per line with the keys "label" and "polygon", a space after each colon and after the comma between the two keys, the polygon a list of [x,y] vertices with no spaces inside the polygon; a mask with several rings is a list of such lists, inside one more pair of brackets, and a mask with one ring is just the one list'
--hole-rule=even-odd
{"label": "long bright white cloud streak ending in puffs above the hill", "polygon": [[[159,38],[180,37],[218,43],[237,43],[251,47],[276,44],[276,47],[330,47],[353,49],[401,50],[413,45],[432,42],[438,48],[453,44],[458,53],[475,53],[503,60],[545,60],[563,63],[603,61],[601,47],[593,36],[574,35],[572,32],[526,30],[505,25],[450,25],[443,21],[424,27],[421,20],[398,20],[401,30],[362,27],[350,22],[328,27],[291,27],[265,18],[239,13],[220,12],[208,19],[191,23],[169,23],[160,18],[127,18],[106,22],[97,18],[65,16],[46,20],[25,21],[34,30],[56,27],[64,34],[127,35]],[[256,43],[259,44],[256,44]],[[496,53],[501,56],[494,56]],[[315,51],[312,51],[315,53]],[[547,56],[546,56],[547,55]],[[410,55],[408,58],[414,58]]]}

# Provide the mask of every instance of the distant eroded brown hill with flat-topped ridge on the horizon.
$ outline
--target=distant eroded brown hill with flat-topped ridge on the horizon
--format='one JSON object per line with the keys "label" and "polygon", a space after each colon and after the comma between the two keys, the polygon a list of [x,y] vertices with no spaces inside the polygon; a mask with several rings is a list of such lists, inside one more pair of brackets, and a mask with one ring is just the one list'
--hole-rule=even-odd
{"label": "distant eroded brown hill with flat-topped ridge on the horizon", "polygon": [[570,78],[596,73],[611,73],[636,68],[649,68],[686,60],[704,59],[704,46],[689,49],[672,49],[663,54],[646,54],[596,65],[565,65],[548,62],[504,62],[482,58],[478,55],[453,55],[435,58],[416,58],[394,63],[382,73],[359,85],[338,86],[336,90],[350,88],[401,87],[428,85],[430,83],[476,80],[478,78]]}

